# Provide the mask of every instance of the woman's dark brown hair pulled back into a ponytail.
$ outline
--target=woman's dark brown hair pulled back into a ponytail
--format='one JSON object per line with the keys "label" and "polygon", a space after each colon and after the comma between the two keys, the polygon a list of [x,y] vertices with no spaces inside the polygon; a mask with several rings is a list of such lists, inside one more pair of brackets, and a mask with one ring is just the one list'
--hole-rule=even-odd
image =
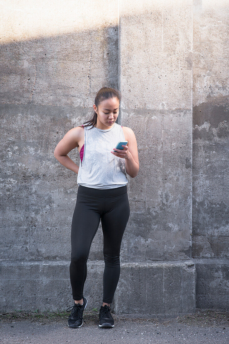
{"label": "woman's dark brown hair pulled back into a ponytail", "polygon": [[[103,100],[114,98],[114,97],[118,98],[119,104],[120,104],[121,93],[119,92],[119,90],[117,90],[115,88],[111,88],[111,87],[102,87],[102,88],[100,88],[100,90],[98,92],[96,92],[94,104],[95,104],[96,108],[98,109],[98,106],[100,105],[100,103]],[[97,122],[97,114],[96,114],[95,110],[93,109],[92,117],[88,121],[84,122],[84,123],[88,123],[87,125],[84,125],[84,127],[89,127],[92,125],[92,127],[90,128],[90,129],[92,129],[96,125],[96,122]],[[79,127],[82,127],[82,126],[79,126]]]}

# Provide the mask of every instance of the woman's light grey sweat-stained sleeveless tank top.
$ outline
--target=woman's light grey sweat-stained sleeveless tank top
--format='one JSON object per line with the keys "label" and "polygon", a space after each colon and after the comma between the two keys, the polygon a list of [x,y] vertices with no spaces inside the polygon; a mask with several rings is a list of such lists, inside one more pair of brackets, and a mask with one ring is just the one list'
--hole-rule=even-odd
{"label": "woman's light grey sweat-stained sleeveless tank top", "polygon": [[105,130],[90,128],[92,125],[84,127],[84,151],[77,184],[94,189],[115,189],[126,185],[125,159],[111,153],[118,141],[125,141],[122,126],[115,122]]}

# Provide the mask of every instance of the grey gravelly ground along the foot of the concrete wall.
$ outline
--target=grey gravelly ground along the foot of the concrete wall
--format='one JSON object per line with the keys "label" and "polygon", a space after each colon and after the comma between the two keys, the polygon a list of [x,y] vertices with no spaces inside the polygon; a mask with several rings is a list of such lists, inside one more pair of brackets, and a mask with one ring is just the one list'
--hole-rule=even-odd
{"label": "grey gravelly ground along the foot of the concrete wall", "polygon": [[87,344],[228,344],[229,312],[200,310],[170,319],[134,319],[113,314],[115,326],[101,329],[98,319],[87,319],[79,329],[71,329],[67,318],[0,321],[0,343],[87,343]]}

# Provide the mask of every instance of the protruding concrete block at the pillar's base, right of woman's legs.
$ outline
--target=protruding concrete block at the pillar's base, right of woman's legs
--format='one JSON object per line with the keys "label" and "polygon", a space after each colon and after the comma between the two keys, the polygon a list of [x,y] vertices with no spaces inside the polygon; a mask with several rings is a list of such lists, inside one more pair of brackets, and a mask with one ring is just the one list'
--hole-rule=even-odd
{"label": "protruding concrete block at the pillar's base, right of woman's legs", "polygon": [[121,264],[116,314],[177,315],[195,312],[195,265],[186,261]]}

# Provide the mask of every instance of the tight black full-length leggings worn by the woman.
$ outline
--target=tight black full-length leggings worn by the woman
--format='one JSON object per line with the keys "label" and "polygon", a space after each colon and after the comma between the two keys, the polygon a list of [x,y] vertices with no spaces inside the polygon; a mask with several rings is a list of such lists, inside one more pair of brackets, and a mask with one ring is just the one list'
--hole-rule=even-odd
{"label": "tight black full-length leggings worn by the woman", "polygon": [[120,248],[130,214],[127,186],[93,189],[79,185],[71,225],[70,281],[73,300],[83,297],[87,260],[100,224],[103,230],[103,302],[112,303],[120,275]]}

